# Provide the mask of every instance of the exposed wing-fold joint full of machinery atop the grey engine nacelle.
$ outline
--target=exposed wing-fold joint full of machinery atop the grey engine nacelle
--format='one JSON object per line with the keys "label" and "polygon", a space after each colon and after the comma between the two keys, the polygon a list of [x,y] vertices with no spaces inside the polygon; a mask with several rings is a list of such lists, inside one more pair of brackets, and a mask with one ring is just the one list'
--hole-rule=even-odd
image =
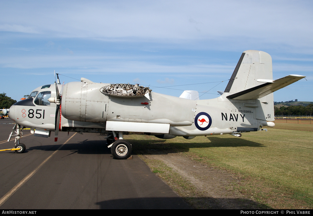
{"label": "exposed wing-fold joint full of machinery atop the grey engine nacelle", "polygon": [[150,93],[151,89],[148,87],[131,85],[131,84],[111,84],[103,87],[100,91],[106,95],[118,97],[142,97],[146,93]]}

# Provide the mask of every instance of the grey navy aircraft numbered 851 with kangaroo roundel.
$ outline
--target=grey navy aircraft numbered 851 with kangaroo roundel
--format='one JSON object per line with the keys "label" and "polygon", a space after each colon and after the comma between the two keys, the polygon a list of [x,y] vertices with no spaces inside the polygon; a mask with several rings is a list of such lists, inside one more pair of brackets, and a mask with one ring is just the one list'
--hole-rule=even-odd
{"label": "grey navy aircraft numbered 851 with kangaroo roundel", "polygon": [[123,139],[128,132],[164,139],[241,137],[244,132],[274,127],[273,92],[302,78],[288,75],[273,80],[272,58],[254,50],[242,53],[224,92],[209,100],[197,100],[195,91],[174,97],[137,84],[94,83],[85,78],[62,85],[57,77],[55,84],[34,89],[28,99],[10,107],[9,116],[16,122],[10,137],[16,133],[14,150],[23,153],[26,147],[20,139],[25,127],[39,137],[54,131],[55,143],[59,131],[102,133],[116,159],[131,155],[131,144]]}

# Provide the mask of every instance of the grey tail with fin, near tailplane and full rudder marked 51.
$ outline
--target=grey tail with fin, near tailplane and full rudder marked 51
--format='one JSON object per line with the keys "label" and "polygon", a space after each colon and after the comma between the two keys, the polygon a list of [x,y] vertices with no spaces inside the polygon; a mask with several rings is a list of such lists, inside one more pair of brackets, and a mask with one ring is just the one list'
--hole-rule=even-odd
{"label": "grey tail with fin, near tailplane and full rudder marked 51", "polygon": [[288,75],[273,80],[272,58],[263,51],[244,51],[226,86],[226,98],[233,100],[253,100],[244,104],[254,108],[254,118],[274,121],[273,92],[284,88],[305,76]]}

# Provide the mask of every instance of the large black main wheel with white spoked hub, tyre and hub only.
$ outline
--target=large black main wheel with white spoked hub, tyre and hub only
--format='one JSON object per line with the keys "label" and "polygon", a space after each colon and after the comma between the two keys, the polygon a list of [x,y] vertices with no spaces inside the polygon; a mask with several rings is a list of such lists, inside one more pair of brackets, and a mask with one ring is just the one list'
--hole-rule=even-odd
{"label": "large black main wheel with white spoked hub, tyre and hub only", "polygon": [[115,159],[127,159],[131,156],[131,143],[124,139],[116,140],[111,147]]}

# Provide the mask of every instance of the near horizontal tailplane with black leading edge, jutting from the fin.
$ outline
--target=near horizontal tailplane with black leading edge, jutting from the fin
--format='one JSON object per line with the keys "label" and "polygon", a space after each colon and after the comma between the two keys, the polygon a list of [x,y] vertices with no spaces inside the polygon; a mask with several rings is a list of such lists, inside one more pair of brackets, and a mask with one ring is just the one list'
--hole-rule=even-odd
{"label": "near horizontal tailplane with black leading edge, jutting from the fin", "polygon": [[305,78],[305,76],[288,75],[288,76],[285,76],[283,78],[276,79],[276,80],[259,79],[257,81],[264,82],[264,84],[240,91],[232,95],[228,95],[226,98],[233,99],[233,100],[251,100],[251,99],[262,98],[302,78]]}

